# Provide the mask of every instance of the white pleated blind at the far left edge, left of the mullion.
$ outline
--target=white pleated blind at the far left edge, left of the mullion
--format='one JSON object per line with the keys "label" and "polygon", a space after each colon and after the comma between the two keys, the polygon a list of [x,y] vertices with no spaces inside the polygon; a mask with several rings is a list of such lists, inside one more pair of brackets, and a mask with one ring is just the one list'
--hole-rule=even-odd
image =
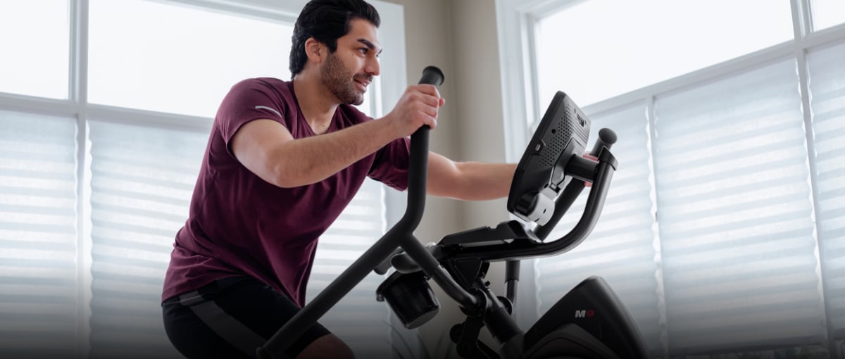
{"label": "white pleated blind at the far left edge, left of the mullion", "polygon": [[72,355],[76,119],[0,111],[0,356]]}

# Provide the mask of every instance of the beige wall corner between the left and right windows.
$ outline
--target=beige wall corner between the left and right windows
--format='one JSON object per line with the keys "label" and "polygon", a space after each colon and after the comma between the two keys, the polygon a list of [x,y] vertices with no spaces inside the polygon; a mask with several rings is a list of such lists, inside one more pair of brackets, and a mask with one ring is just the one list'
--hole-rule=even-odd
{"label": "beige wall corner between the left and right windows", "polygon": [[[444,71],[446,106],[431,150],[453,160],[504,162],[504,118],[493,0],[388,0],[405,7],[408,83],[425,66]],[[461,202],[429,198],[421,240],[507,220],[505,200]]]}

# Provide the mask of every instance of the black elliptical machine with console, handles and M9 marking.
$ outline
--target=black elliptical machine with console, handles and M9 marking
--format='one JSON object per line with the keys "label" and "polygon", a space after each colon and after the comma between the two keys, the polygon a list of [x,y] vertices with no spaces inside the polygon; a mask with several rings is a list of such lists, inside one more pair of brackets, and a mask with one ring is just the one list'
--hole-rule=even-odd
{"label": "black elliptical machine with console, handles and M9 marking", "polygon": [[[420,84],[439,85],[443,79],[439,68],[428,67]],[[616,134],[602,128],[591,150],[598,160],[584,158],[590,120],[567,95],[558,92],[522,155],[510,187],[507,208],[527,225],[505,221],[495,228],[461,231],[423,246],[413,231],[425,207],[428,130],[424,126],[411,137],[408,203],[402,219],[259,347],[257,356],[281,357],[276,353],[291,345],[302,328],[316,323],[370,270],[384,274],[392,266],[396,270],[379,286],[377,300],[387,302],[406,328],[417,328],[439,311],[439,302],[428,286],[428,280],[434,280],[466,314],[466,321],[450,331],[463,357],[645,359],[645,341],[633,318],[599,277],[575,286],[525,332],[510,316],[520,260],[569,251],[596,225],[618,164],[610,152]],[[585,181],[592,182],[592,187],[581,220],[564,237],[545,242],[585,188]],[[506,296],[493,294],[484,280],[490,263],[496,261],[506,263]],[[498,350],[478,340],[485,326],[499,342]]]}

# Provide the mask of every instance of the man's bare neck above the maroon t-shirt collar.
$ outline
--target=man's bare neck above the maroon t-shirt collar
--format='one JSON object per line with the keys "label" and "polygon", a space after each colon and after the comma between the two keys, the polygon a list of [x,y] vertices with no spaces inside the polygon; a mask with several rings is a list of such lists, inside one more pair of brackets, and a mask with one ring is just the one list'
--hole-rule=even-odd
{"label": "man's bare neck above the maroon t-shirt collar", "polygon": [[314,133],[325,133],[335,116],[338,103],[316,76],[303,71],[293,79],[293,93],[297,96],[299,110]]}

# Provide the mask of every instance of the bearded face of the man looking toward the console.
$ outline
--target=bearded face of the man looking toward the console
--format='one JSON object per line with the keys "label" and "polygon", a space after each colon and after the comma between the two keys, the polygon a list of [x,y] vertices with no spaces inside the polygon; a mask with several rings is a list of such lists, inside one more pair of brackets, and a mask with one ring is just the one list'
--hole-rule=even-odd
{"label": "bearded face of the man looking toward the console", "polygon": [[337,39],[337,51],[326,57],[320,73],[323,84],[341,103],[361,105],[374,76],[379,75],[381,46],[369,21],[354,19],[348,34]]}

